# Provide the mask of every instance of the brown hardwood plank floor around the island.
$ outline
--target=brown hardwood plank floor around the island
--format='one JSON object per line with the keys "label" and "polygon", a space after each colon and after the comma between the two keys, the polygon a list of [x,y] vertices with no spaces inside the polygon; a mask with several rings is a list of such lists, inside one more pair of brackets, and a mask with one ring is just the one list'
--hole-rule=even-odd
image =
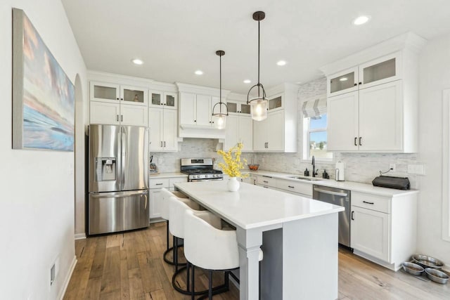
{"label": "brown hardwood plank floor around the island", "polygon": [[[165,223],[153,223],[145,230],[77,240],[77,266],[64,299],[190,299],[172,288],[174,267],[162,260],[165,234]],[[222,278],[215,274],[214,284]],[[176,282],[186,285],[182,275]],[[206,287],[206,275],[196,269],[195,289]],[[236,287],[230,287],[214,299],[239,299]],[[450,299],[450,287],[387,270],[340,249],[339,299]]]}

